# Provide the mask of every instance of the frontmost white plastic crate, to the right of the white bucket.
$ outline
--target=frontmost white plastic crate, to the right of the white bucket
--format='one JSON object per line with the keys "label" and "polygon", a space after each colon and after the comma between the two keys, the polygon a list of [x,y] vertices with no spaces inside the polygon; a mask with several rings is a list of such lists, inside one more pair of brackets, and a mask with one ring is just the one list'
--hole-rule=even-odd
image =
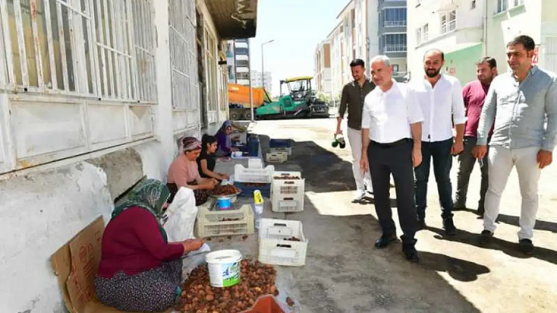
{"label": "frontmost white plastic crate, to the right of the white bucket", "polygon": [[[300,241],[287,240],[292,237]],[[302,222],[261,218],[258,260],[272,265],[304,266],[307,242]]]}

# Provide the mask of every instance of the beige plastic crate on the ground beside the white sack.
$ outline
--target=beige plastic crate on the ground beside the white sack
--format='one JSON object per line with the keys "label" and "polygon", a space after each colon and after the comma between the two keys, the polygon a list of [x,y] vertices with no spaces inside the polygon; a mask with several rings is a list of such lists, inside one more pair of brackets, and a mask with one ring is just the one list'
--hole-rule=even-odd
{"label": "beige plastic crate on the ground beside the white sack", "polygon": [[[213,205],[216,205],[216,201],[213,202]],[[255,232],[251,205],[243,205],[236,210],[223,211],[210,210],[212,207],[201,206],[198,208],[197,237],[251,235]]]}

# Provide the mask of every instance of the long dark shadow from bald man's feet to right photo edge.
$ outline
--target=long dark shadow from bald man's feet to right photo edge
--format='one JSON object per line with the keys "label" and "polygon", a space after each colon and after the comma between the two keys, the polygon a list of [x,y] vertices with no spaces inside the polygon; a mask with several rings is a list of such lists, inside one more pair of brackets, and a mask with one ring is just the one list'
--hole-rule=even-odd
{"label": "long dark shadow from bald man's feet to right photo edge", "polygon": [[519,259],[535,258],[542,261],[550,262],[552,264],[557,264],[557,251],[546,249],[543,247],[535,247],[534,255],[527,256],[524,255],[519,250],[519,246],[517,242],[510,242],[510,241],[499,239],[497,237],[492,237],[490,244],[486,246],[482,246],[478,242],[478,236],[479,236],[478,233],[471,233],[459,229],[456,236],[444,236],[444,231],[439,228],[427,227],[426,229],[434,233],[437,233],[437,235],[434,235],[433,237],[439,240],[460,242],[461,244],[467,244],[482,249],[499,250],[506,255],[516,257]]}

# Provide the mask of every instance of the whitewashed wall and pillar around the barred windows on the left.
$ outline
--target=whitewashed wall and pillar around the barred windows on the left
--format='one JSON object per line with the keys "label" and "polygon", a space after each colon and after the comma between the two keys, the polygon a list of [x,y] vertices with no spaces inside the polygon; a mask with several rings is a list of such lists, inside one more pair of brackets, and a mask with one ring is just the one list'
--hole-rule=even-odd
{"label": "whitewashed wall and pillar around the barred windows on the left", "polygon": [[[172,107],[168,14],[158,1],[156,106],[0,92],[0,172],[20,169],[0,175],[0,312],[65,312],[53,252],[97,216],[106,220],[114,198],[143,175],[164,181],[177,138],[201,135],[198,111]],[[209,132],[226,118],[217,115]]]}

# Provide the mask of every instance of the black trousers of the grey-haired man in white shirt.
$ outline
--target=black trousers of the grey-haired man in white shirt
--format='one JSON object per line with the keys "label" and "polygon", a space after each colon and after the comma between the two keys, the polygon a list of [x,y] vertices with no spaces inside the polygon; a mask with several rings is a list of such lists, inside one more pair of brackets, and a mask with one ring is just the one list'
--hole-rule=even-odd
{"label": "black trousers of the grey-haired man in white shirt", "polygon": [[412,140],[382,144],[371,141],[368,146],[369,170],[372,177],[375,211],[383,235],[395,235],[396,227],[390,207],[390,175],[397,191],[397,208],[404,241],[413,242],[418,227],[414,206],[414,171]]}

